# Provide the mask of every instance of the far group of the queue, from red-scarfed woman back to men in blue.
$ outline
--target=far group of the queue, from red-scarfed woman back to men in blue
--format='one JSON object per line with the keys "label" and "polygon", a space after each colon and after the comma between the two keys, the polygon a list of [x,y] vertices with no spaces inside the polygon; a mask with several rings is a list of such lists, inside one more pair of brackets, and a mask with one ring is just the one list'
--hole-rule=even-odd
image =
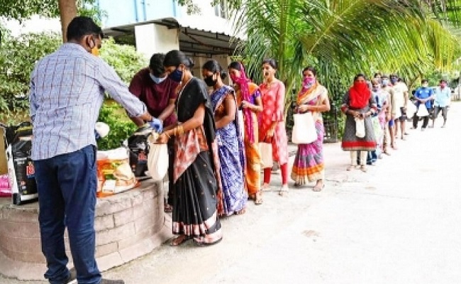
{"label": "far group of the queue, from red-scarfed woman back to men in blue", "polygon": [[[341,148],[350,152],[346,170],[358,166],[366,173],[367,165],[374,165],[383,154],[390,155],[389,142],[397,150],[396,139],[405,141],[409,135],[406,121],[412,121],[411,129],[417,129],[418,121],[423,120],[421,131],[425,131],[426,127],[434,127],[441,113],[441,127],[445,127],[451,96],[446,80],[440,80],[435,91],[428,87],[428,80],[421,80],[421,87],[410,99],[403,80],[397,75],[389,77],[376,74],[369,82],[365,75],[358,74],[343,98],[341,111],[346,121]],[[429,119],[432,126],[428,126]]]}

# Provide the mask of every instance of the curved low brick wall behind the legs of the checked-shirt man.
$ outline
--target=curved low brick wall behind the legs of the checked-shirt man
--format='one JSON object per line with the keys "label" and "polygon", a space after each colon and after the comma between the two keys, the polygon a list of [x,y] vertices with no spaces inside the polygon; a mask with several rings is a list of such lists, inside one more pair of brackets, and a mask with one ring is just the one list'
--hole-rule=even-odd
{"label": "curved low brick wall behind the legs of the checked-shirt man", "polygon": [[[170,239],[171,222],[163,213],[162,187],[162,182],[146,180],[139,188],[98,200],[96,261],[101,271],[144,256]],[[65,242],[72,261],[67,233]],[[43,280],[45,269],[38,203],[0,204],[0,273],[21,280]]]}

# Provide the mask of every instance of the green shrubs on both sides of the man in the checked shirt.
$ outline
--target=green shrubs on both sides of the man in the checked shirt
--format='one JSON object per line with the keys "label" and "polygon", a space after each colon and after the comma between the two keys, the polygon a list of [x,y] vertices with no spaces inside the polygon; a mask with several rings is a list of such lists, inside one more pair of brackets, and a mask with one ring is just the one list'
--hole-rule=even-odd
{"label": "green shrubs on both sides of the man in the checked shirt", "polygon": [[[35,62],[61,45],[58,33],[29,33],[13,37],[2,30],[0,48],[0,121],[18,124],[29,120],[29,81]],[[130,45],[118,45],[113,39],[104,40],[100,50],[102,59],[111,65],[123,82],[130,82],[135,72],[148,65],[148,61]],[[109,99],[101,108],[98,121],[109,124],[109,136],[98,141],[101,150],[117,148],[128,138],[136,126],[126,112]]]}

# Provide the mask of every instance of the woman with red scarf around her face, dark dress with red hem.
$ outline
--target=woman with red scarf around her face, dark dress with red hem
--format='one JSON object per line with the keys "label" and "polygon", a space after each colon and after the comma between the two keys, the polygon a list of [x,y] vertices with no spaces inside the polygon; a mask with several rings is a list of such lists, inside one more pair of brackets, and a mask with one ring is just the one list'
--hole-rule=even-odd
{"label": "woman with red scarf around her face, dark dress with red hem", "polygon": [[[350,151],[350,165],[347,170],[356,167],[357,153],[360,152],[360,170],[365,173],[368,151],[374,151],[377,145],[371,118],[377,111],[377,104],[365,75],[355,76],[354,84],[344,96],[341,111],[346,115],[341,148],[343,151]],[[360,130],[357,131],[357,126],[360,124],[364,126],[365,133],[358,133]]]}

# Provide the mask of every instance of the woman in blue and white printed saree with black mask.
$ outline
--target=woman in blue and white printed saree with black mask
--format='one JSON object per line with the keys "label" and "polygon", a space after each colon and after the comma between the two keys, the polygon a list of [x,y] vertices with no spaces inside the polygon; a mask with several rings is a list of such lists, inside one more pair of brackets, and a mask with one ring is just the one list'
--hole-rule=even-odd
{"label": "woman in blue and white printed saree with black mask", "polygon": [[202,75],[208,87],[213,87],[211,105],[216,122],[216,142],[218,143],[221,165],[221,185],[223,187],[221,215],[245,213],[248,195],[245,190],[245,149],[238,125],[237,102],[234,90],[223,83],[226,72],[216,60],[207,61],[202,67]]}

